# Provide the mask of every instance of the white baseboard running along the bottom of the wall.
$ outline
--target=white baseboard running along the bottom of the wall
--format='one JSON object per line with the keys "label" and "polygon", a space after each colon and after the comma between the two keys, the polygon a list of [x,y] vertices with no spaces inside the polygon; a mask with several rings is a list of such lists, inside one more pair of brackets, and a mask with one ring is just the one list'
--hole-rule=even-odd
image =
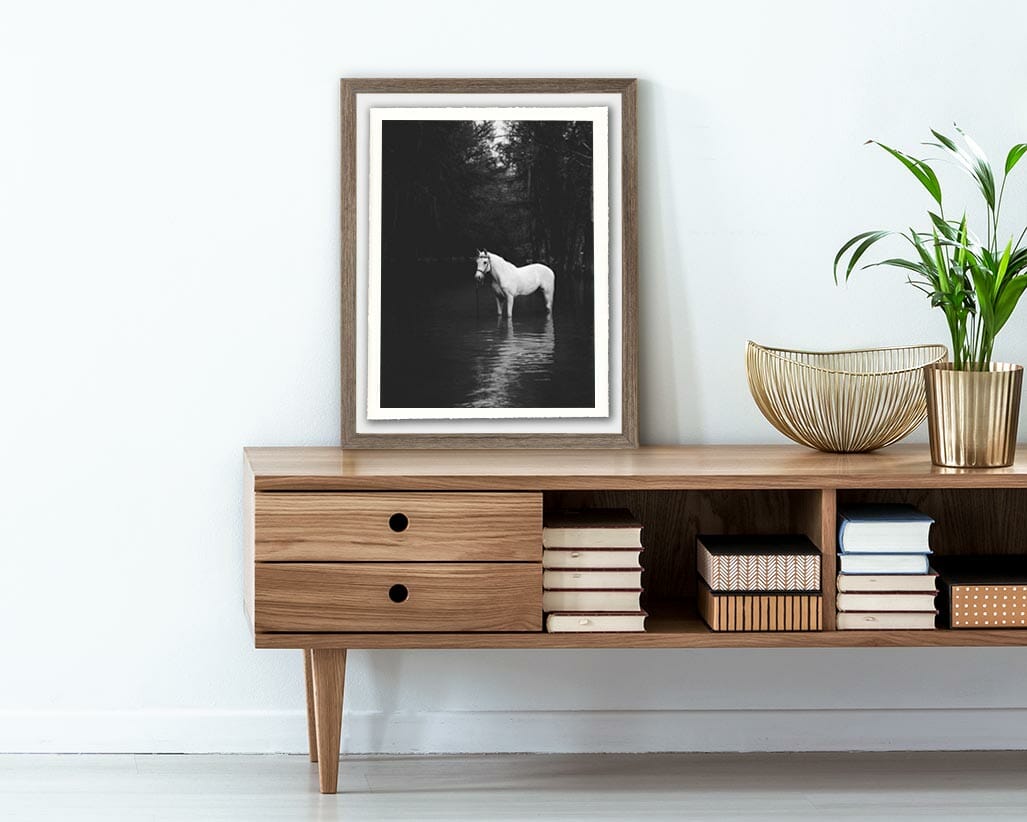
{"label": "white baseboard running along the bottom of the wall", "polygon": [[[349,712],[346,753],[1027,749],[1027,709]],[[302,711],[0,712],[0,751],[301,753]]]}

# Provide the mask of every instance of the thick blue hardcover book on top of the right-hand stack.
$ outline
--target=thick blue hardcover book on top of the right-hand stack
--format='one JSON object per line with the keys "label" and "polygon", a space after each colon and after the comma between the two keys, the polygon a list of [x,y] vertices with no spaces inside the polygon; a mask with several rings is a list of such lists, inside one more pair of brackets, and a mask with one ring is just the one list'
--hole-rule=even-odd
{"label": "thick blue hardcover book on top of the right-hand stack", "polygon": [[846,506],[839,512],[843,554],[929,554],[934,520],[913,506]]}

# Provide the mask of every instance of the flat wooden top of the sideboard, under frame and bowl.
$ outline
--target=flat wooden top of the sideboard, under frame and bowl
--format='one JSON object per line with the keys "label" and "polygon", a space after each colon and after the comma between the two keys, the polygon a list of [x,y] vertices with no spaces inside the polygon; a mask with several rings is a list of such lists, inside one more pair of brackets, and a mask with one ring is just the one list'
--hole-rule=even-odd
{"label": "flat wooden top of the sideboard, under frame and bowl", "polygon": [[923,445],[825,454],[798,445],[610,450],[248,448],[258,491],[1027,487],[1027,446],[1006,469],[946,469]]}

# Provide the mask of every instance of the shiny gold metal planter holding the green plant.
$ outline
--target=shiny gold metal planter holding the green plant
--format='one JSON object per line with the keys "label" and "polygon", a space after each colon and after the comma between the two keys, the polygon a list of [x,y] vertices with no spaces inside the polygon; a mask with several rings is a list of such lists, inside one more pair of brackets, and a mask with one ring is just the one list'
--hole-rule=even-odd
{"label": "shiny gold metal planter holding the green plant", "polygon": [[935,464],[969,469],[1012,465],[1023,366],[989,363],[987,371],[956,371],[951,363],[937,363],[927,366],[923,376]]}

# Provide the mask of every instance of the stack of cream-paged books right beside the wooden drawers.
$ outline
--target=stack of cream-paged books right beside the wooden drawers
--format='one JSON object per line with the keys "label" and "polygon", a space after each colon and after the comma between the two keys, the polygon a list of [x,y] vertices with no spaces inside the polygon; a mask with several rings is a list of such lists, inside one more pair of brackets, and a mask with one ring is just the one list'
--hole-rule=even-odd
{"label": "stack of cream-paged books right beside the wooden drawers", "polygon": [[644,631],[642,524],[622,509],[546,515],[542,610],[547,631]]}

